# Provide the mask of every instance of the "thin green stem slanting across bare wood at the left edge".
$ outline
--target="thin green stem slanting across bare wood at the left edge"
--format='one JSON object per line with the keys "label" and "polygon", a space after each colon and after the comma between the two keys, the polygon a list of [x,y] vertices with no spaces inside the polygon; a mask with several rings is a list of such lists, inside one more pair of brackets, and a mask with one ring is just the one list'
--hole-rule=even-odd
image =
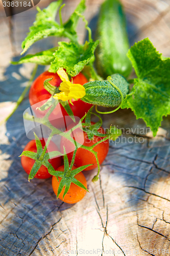
{"label": "thin green stem slanting across bare wood at the left edge", "polygon": [[13,109],[13,111],[9,114],[9,116],[7,116],[3,121],[0,122],[0,125],[5,123],[6,121],[8,121],[8,119],[15,113],[15,111],[17,110],[18,106],[20,105],[20,103],[22,102],[22,100],[25,98],[33,80],[34,80],[34,77],[36,75],[36,72],[37,72],[37,68],[38,68],[38,65],[36,64],[34,69],[33,69],[33,72],[32,72],[32,75],[31,75],[31,78],[26,86],[26,88],[23,90],[22,94],[20,95],[20,97],[18,98],[17,102],[16,102],[16,106],[15,108]]}

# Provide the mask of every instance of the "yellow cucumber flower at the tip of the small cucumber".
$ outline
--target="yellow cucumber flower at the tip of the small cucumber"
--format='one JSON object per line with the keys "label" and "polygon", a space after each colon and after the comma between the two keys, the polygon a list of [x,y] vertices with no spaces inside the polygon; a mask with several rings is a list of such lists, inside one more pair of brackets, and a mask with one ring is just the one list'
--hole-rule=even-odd
{"label": "yellow cucumber flower at the tip of the small cucumber", "polygon": [[68,79],[66,72],[63,68],[59,68],[57,74],[61,78],[59,90],[60,93],[56,93],[53,97],[55,99],[61,99],[63,101],[71,99],[83,98],[86,94],[84,86],[79,83],[71,83]]}

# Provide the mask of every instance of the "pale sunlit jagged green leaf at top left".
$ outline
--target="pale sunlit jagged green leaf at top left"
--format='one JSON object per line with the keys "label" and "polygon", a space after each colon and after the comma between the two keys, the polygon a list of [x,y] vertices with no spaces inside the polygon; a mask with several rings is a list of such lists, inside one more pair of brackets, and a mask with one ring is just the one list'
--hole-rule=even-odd
{"label": "pale sunlit jagged green leaf at top left", "polygon": [[30,27],[30,32],[25,40],[22,42],[23,51],[21,54],[25,53],[34,42],[45,38],[47,36],[61,36],[63,34],[64,28],[55,21],[55,16],[62,0],[52,2],[47,8],[40,10],[37,7],[38,13],[36,14],[36,19],[32,27]]}

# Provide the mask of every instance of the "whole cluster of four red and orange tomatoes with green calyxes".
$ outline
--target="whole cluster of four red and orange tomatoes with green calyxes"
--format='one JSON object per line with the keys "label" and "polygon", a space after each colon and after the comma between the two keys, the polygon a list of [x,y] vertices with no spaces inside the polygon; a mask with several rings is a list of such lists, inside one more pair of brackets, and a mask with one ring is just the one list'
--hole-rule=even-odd
{"label": "whole cluster of four red and orange tomatoes with green calyxes", "polygon": [[[59,88],[60,83],[62,82],[60,77],[57,73],[50,73],[48,71],[39,75],[30,88],[29,101],[35,115],[34,119],[43,119],[52,108],[52,106],[49,106],[49,108],[44,111],[41,110],[42,104],[52,97],[51,93],[44,88],[44,81],[49,78],[53,78],[50,86],[56,87],[56,89]],[[77,76],[71,78],[71,82],[79,83],[83,86],[88,80],[82,73],[79,73]],[[78,120],[75,120],[74,122],[71,117],[69,117],[64,133],[69,134],[70,136],[61,136],[60,150],[51,139],[35,137],[35,140],[31,140],[24,148],[21,155],[21,164],[31,179],[33,177],[46,179],[53,176],[52,186],[57,197],[66,203],[76,203],[85,196],[87,191],[87,182],[82,170],[91,170],[95,167],[98,167],[99,169],[99,165],[107,156],[109,140],[104,139],[106,136],[101,124],[97,126],[97,129],[96,127],[94,129],[98,133],[98,136],[94,133],[93,136],[89,138],[89,126],[91,127],[89,132],[93,133],[92,127],[96,125],[89,121],[91,115],[89,110],[92,104],[83,102],[81,99],[72,99],[68,104],[74,117],[78,117],[79,120],[80,118],[83,120],[88,113],[88,118],[85,118],[81,122],[81,127],[78,125],[78,123],[80,123]],[[64,106],[58,102],[55,107],[53,107],[51,114],[48,115],[48,120],[51,125],[50,127],[54,127],[54,129],[63,129],[65,123],[60,122],[61,112],[63,117],[69,116]],[[75,128],[76,125],[77,127]],[[74,130],[74,133],[72,133],[72,130]],[[100,137],[100,134],[102,137]],[[80,141],[82,136],[83,143]],[[82,146],[76,148],[76,145],[79,142]],[[50,155],[50,153],[53,152],[58,152],[56,157],[46,157],[47,154]],[[61,153],[60,155],[59,152]],[[32,153],[36,155],[32,156]],[[61,186],[60,183],[62,182],[64,184]]]}

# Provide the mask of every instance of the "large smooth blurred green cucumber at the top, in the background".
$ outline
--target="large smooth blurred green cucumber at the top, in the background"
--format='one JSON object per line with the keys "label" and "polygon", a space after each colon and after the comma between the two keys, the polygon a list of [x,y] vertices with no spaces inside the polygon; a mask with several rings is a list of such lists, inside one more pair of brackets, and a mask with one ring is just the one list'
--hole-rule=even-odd
{"label": "large smooth blurred green cucumber at the top, in the background", "polygon": [[118,0],[106,0],[102,4],[96,38],[100,41],[95,51],[99,75],[105,79],[114,73],[128,77],[132,70],[131,62],[126,56],[130,46],[125,14]]}

